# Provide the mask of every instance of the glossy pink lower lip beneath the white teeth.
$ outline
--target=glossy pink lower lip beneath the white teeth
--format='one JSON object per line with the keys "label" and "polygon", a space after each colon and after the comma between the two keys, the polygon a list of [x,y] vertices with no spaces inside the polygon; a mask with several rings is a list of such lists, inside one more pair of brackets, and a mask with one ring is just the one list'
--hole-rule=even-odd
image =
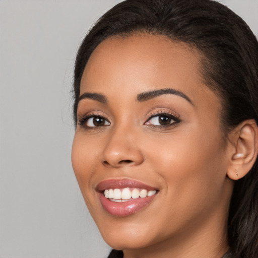
{"label": "glossy pink lower lip beneath the white teeth", "polygon": [[99,195],[103,208],[109,214],[120,217],[129,216],[138,212],[140,209],[146,207],[156,196],[153,195],[145,198],[132,199],[127,202],[116,203],[105,198],[103,193],[99,193]]}

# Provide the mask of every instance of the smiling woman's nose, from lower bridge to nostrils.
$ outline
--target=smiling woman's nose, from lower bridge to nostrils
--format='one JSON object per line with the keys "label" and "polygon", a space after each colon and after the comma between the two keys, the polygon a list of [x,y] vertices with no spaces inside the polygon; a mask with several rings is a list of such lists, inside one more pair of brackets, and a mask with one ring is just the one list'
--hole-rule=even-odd
{"label": "smiling woman's nose, from lower bridge to nostrils", "polygon": [[137,137],[127,130],[115,130],[109,135],[103,151],[102,164],[107,167],[140,165],[144,161]]}

